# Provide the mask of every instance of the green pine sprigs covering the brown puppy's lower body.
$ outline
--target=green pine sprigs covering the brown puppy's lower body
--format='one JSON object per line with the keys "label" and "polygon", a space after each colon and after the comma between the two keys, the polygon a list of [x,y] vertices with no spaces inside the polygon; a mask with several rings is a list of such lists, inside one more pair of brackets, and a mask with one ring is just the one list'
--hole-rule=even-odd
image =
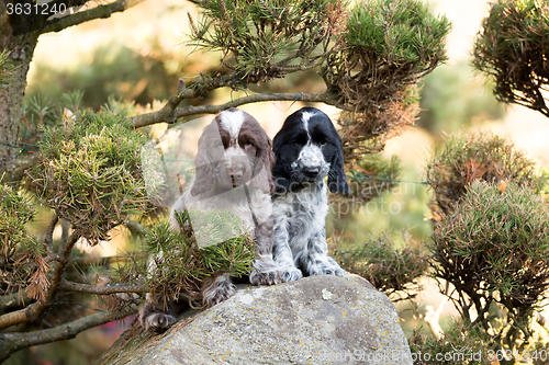
{"label": "green pine sprigs covering the brown puppy's lower body", "polygon": [[[205,231],[201,232],[212,239],[219,238],[219,227],[242,226],[240,218],[232,212],[208,210],[203,215],[213,217],[206,218],[210,221],[220,221],[220,225],[204,227]],[[170,228],[169,221],[166,221],[155,225],[147,233],[148,251],[154,258],[152,265],[157,267],[156,274],[147,277],[147,286],[152,292],[171,297],[182,292],[197,297],[201,285],[209,277],[225,273],[235,277],[249,274],[255,260],[255,240],[250,232],[199,248],[189,212],[177,215],[177,221],[183,227],[181,230]]]}

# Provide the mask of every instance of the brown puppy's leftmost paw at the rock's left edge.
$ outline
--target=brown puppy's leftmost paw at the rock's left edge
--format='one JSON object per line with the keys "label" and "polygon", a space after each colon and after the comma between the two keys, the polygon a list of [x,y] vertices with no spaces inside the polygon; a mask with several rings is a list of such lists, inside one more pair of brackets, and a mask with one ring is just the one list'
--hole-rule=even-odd
{"label": "brown puppy's leftmost paw at the rock's left edge", "polygon": [[160,294],[152,295],[147,293],[145,304],[139,312],[139,322],[148,332],[161,333],[166,331],[177,322],[172,300],[165,303]]}

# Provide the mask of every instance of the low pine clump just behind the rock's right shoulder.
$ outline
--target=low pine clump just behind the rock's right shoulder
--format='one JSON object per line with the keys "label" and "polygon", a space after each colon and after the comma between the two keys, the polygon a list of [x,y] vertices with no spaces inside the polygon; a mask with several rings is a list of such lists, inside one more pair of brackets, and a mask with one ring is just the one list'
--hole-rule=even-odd
{"label": "low pine clump just behind the rock's right shoulder", "polygon": [[399,294],[411,299],[418,290],[417,278],[429,267],[428,255],[422,250],[423,242],[402,233],[402,242],[395,242],[390,233],[370,237],[362,246],[338,250],[333,255],[345,270],[367,278],[386,295]]}

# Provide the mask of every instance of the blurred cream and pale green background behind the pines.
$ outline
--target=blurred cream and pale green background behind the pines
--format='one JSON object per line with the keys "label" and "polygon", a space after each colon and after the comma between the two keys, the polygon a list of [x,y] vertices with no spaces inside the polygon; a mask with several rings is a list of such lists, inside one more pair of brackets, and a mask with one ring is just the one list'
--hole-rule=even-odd
{"label": "blurred cream and pale green background behind the pines", "polygon": [[[427,160],[448,134],[490,130],[513,140],[540,167],[549,166],[547,118],[526,107],[498,104],[491,85],[469,65],[474,36],[488,14],[488,1],[435,0],[429,3],[435,13],[445,13],[453,23],[447,38],[449,60],[425,77],[416,125],[389,140],[384,149],[386,157],[395,155],[402,160],[399,179],[403,182],[367,205],[351,206],[345,220],[339,219],[337,206],[332,209],[328,235],[343,244],[362,242],[369,235],[384,230],[395,235],[407,231],[414,240],[429,240],[429,191],[422,182],[426,179]],[[26,102],[48,105],[64,92],[81,90],[82,106],[94,110],[109,98],[135,102],[138,110],[160,107],[163,101],[177,91],[179,78],[195,77],[199,71],[219,65],[219,55],[204,55],[186,44],[190,33],[187,12],[194,18],[198,14],[197,9],[183,0],[149,0],[108,20],[42,35],[31,64]],[[317,92],[324,85],[322,79],[311,72],[278,80],[269,88]],[[254,85],[250,89],[254,91]],[[202,103],[219,104],[238,95],[216,91]],[[253,114],[272,138],[285,116],[301,106],[299,102],[270,102],[243,109]],[[337,118],[335,107],[315,106]],[[38,217],[37,229],[41,225],[47,225],[45,217],[43,221]],[[111,242],[94,248],[97,254],[111,255],[123,250],[125,235],[122,231],[113,235]],[[455,313],[451,304],[444,304],[435,283],[425,280],[423,284],[425,289],[415,303],[397,304],[405,331],[421,326],[428,306],[436,309],[442,303],[442,329],[445,316]],[[75,340],[20,352],[7,364],[89,364],[123,329],[124,323],[109,323],[83,332]]]}

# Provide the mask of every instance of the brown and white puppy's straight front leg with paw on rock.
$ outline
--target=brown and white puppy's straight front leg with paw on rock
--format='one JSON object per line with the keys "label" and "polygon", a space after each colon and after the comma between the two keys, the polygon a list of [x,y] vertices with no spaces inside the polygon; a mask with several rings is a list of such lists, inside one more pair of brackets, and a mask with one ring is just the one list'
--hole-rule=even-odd
{"label": "brown and white puppy's straight front leg with paw on rock", "polygon": [[282,272],[272,260],[272,217],[256,227],[256,254],[254,271],[249,282],[254,285],[274,285],[282,283]]}

